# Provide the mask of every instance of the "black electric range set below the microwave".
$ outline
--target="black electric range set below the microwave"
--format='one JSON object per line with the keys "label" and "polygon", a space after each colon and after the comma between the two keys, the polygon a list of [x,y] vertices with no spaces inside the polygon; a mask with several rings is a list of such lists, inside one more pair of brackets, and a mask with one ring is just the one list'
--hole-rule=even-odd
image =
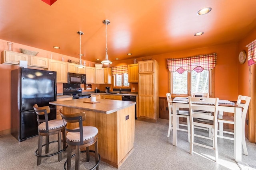
{"label": "black electric range set below the microwave", "polygon": [[63,84],[63,95],[73,96],[73,99],[90,98],[90,94],[82,94],[80,84]]}

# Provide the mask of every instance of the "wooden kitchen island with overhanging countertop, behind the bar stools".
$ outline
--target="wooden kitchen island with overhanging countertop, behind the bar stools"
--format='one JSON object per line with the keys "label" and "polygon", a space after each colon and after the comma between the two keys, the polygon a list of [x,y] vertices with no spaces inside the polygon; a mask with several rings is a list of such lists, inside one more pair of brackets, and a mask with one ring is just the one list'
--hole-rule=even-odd
{"label": "wooden kitchen island with overhanging countertop, behind the bar stools", "polygon": [[[98,103],[89,102],[89,98],[50,102],[62,106],[65,114],[84,111],[86,121],[83,125],[98,128],[98,150],[101,160],[119,168],[134,150],[135,142],[135,104],[136,102],[97,99]],[[78,127],[77,123],[68,124]],[[90,148],[94,150],[94,148]]]}

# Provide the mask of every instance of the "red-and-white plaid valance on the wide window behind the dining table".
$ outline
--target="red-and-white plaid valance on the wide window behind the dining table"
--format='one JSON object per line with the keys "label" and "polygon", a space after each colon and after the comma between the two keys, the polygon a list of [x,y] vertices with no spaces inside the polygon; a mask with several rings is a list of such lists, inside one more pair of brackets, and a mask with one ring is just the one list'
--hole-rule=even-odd
{"label": "red-and-white plaid valance on the wide window behind the dining table", "polygon": [[167,59],[167,68],[170,72],[182,74],[185,70],[191,72],[202,72],[203,70],[212,70],[217,63],[217,54],[197,55],[183,59]]}

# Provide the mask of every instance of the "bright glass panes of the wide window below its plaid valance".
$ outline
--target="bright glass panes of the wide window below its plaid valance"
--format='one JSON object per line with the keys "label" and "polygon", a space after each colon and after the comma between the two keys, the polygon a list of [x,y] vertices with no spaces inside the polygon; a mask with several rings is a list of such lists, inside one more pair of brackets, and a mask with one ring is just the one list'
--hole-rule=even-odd
{"label": "bright glass panes of the wide window below its plaid valance", "polygon": [[211,94],[212,71],[203,70],[202,72],[184,71],[170,72],[170,89],[172,95],[188,95],[190,92],[204,92]]}

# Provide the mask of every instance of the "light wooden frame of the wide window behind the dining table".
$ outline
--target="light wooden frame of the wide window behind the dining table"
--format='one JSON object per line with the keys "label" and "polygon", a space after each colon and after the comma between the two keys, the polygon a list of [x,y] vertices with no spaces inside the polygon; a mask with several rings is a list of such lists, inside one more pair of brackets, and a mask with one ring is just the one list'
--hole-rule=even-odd
{"label": "light wooden frame of the wide window behind the dining table", "polygon": [[[215,76],[215,69],[209,70],[209,97],[214,98],[214,76]],[[172,98],[175,97],[188,97],[191,96],[191,72],[188,72],[188,93],[187,94],[173,94],[172,92],[172,72],[168,71],[168,92],[171,93]]]}

